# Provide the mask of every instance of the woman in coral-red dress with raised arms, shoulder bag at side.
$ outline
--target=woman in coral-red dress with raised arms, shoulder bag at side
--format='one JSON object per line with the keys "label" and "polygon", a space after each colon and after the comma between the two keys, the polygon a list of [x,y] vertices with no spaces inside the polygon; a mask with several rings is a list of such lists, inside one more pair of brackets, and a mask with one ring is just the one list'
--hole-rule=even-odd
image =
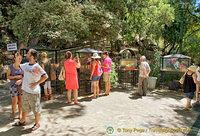
{"label": "woman in coral-red dress with raised arms, shoulder bag at side", "polygon": [[67,59],[64,62],[65,68],[65,85],[67,89],[67,98],[68,104],[72,103],[71,101],[71,92],[73,90],[74,94],[74,104],[80,104],[77,100],[78,97],[78,75],[76,68],[80,68],[79,58],[75,58],[72,60],[72,53],[67,51],[65,54],[65,58]]}

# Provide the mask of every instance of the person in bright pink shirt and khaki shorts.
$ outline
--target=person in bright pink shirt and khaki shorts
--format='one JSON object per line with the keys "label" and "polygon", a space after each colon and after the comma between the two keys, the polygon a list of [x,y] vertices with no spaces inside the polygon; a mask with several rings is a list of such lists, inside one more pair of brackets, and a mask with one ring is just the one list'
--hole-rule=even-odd
{"label": "person in bright pink shirt and khaki shorts", "polygon": [[104,58],[102,68],[103,80],[105,82],[105,95],[109,95],[112,59],[109,57],[108,51],[105,51],[102,56]]}

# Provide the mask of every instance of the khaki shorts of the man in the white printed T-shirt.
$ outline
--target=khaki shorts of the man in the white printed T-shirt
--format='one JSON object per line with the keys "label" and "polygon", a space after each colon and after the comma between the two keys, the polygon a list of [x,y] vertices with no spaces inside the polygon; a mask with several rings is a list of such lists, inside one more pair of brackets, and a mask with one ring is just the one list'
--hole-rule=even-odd
{"label": "khaki shorts of the man in the white printed T-shirt", "polygon": [[22,97],[22,112],[31,112],[40,114],[40,94],[30,94],[24,91]]}

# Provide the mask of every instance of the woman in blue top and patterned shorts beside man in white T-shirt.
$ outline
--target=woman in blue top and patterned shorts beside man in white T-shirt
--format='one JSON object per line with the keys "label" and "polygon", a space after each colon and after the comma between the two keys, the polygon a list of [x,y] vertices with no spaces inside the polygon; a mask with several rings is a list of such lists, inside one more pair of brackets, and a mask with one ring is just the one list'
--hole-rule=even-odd
{"label": "woman in blue top and patterned shorts beside man in white T-shirt", "polygon": [[22,106],[22,77],[23,71],[20,68],[22,57],[19,53],[14,55],[14,64],[8,66],[7,79],[10,79],[10,96],[12,99],[12,114],[10,115],[10,120],[14,119],[15,109],[18,103],[19,109],[19,119],[21,118],[21,106]]}

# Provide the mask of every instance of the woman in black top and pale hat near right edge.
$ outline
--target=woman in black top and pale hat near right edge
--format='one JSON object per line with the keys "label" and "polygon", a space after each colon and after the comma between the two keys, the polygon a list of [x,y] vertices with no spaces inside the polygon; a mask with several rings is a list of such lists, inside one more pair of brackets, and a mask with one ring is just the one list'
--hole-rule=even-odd
{"label": "woman in black top and pale hat near right edge", "polygon": [[185,106],[186,110],[191,107],[191,100],[194,97],[194,92],[196,90],[197,78],[196,78],[196,66],[190,66],[188,71],[185,73],[185,80],[183,83],[184,93],[186,94],[187,103]]}

